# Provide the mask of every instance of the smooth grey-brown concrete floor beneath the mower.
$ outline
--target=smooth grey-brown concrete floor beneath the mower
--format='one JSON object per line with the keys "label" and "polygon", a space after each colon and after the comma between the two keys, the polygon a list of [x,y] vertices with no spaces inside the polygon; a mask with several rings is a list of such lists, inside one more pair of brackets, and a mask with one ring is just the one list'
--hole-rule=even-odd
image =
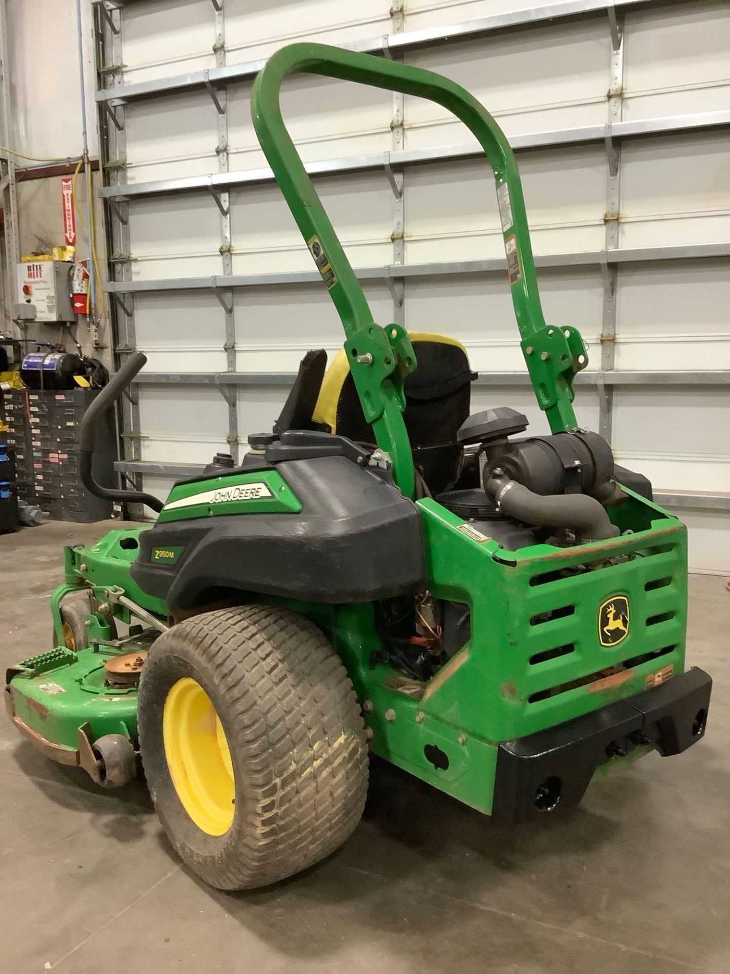
{"label": "smooth grey-brown concrete floor beneath the mower", "polygon": [[[49,644],[59,546],[106,525],[0,537],[3,667]],[[102,792],[0,722],[0,971],[730,971],[730,593],[690,581],[707,737],[594,785],[562,819],[496,829],[382,763],[338,853],[253,893],[181,869],[141,782]]]}

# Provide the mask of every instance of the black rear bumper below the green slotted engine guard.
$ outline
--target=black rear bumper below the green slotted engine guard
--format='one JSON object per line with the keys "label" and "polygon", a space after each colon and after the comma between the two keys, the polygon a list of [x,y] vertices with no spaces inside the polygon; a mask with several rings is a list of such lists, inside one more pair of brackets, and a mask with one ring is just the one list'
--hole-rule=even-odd
{"label": "black rear bumper below the green slotted engine guard", "polygon": [[523,822],[577,805],[591,778],[614,756],[650,745],[679,754],[705,733],[712,679],[690,669],[667,683],[583,717],[499,745],[493,820]]}

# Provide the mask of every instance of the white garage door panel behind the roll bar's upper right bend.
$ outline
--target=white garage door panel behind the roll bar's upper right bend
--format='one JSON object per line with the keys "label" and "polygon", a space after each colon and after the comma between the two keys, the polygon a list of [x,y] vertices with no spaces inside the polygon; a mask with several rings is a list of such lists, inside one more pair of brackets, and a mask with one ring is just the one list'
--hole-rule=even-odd
{"label": "white garage door panel behind the roll bar's upper right bend", "polygon": [[[408,62],[438,71],[476,95],[508,134],[605,121],[608,32],[593,19],[434,47]],[[446,109],[407,96],[406,147],[463,139]]]}

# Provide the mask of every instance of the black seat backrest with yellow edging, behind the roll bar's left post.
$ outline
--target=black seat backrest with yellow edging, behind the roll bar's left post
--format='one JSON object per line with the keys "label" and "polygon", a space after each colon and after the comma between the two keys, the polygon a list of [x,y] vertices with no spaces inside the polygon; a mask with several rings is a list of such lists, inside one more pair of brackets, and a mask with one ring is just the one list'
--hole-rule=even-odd
{"label": "black seat backrest with yellow edging, behind the roll bar's left post", "polygon": [[[410,337],[419,365],[405,382],[404,420],[414,462],[431,492],[440,493],[456,479],[462,452],[456,431],[469,415],[470,383],[476,375],[455,339],[427,332],[412,332]],[[325,373],[313,418],[356,442],[374,442],[345,350]]]}

